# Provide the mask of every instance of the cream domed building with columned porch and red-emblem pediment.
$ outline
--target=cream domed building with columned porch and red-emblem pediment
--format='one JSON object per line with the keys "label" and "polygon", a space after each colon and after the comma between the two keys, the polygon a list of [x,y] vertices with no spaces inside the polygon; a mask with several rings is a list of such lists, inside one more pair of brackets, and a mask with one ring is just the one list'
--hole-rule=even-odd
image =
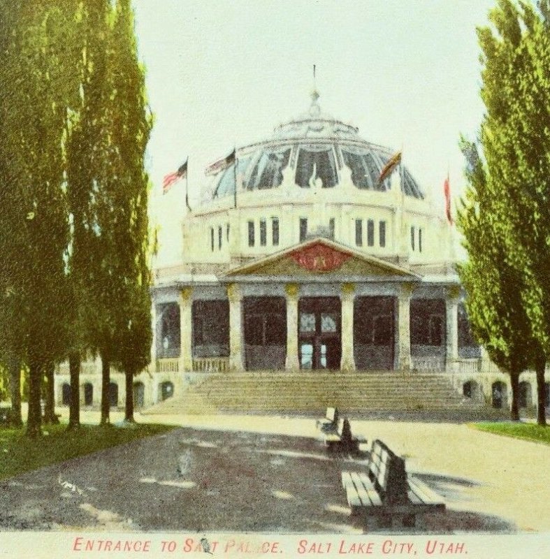
{"label": "cream domed building with columned porch and red-emblem pediment", "polygon": [[157,270],[157,372],[449,371],[479,357],[451,225],[399,160],[314,92],[305,115],[210,166],[182,263]]}

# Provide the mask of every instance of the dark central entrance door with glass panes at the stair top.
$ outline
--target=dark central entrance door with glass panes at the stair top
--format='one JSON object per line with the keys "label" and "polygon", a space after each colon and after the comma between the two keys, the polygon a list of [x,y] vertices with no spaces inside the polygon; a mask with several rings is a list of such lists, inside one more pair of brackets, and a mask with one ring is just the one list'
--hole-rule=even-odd
{"label": "dark central entrance door with glass panes at the stair top", "polygon": [[339,369],[342,356],[340,299],[308,297],[298,303],[301,369]]}

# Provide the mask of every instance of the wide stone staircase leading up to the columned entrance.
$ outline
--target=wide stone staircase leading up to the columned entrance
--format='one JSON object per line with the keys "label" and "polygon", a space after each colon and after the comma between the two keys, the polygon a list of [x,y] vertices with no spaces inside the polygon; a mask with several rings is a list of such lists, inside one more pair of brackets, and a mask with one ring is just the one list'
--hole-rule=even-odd
{"label": "wide stone staircase leading up to the columned entrance", "polygon": [[494,415],[456,392],[447,375],[432,372],[238,372],[205,375],[182,395],[145,414],[323,414],[342,412],[453,412]]}

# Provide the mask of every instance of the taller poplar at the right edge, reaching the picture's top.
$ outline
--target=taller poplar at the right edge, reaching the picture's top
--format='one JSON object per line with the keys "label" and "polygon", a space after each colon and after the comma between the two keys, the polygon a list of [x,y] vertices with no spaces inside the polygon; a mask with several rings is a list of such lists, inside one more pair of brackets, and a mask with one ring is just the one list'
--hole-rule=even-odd
{"label": "taller poplar at the right edge, reaching the picture's top", "polygon": [[[502,262],[497,266],[519,278],[518,298],[531,333],[523,340],[533,338],[540,348],[530,363],[537,375],[540,424],[546,423],[544,369],[550,356],[548,14],[547,0],[538,8],[498,0],[489,15],[491,27],[478,29],[486,106],[479,139],[486,161],[486,182],[498,201],[491,208],[496,211],[483,219],[492,228],[493,239],[503,246]],[[488,247],[480,247],[484,249]],[[516,324],[511,326],[518,337],[515,344],[519,345],[525,333]]]}

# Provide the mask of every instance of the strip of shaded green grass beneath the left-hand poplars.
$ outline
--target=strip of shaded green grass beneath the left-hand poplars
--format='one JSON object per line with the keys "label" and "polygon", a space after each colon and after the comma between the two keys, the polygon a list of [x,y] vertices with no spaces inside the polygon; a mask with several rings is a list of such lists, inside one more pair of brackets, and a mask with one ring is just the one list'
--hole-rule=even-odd
{"label": "strip of shaded green grass beneath the left-hand poplars", "polygon": [[[141,437],[173,429],[166,425],[136,423],[135,428],[82,425],[68,432],[66,424],[43,426],[43,436],[31,440],[22,429],[0,429],[0,479],[83,456]],[[46,435],[48,433],[48,435]]]}

